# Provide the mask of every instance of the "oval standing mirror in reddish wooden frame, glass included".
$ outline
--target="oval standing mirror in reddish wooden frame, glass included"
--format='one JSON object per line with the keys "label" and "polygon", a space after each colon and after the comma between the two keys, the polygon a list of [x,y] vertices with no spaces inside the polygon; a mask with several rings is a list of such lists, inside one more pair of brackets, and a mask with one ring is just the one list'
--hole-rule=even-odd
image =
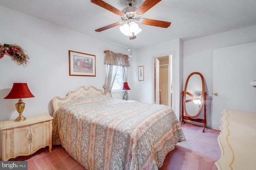
{"label": "oval standing mirror in reddish wooden frame, glass included", "polygon": [[[204,123],[206,127],[206,92],[204,92],[204,77],[199,72],[192,72],[182,91],[182,122],[184,120]],[[204,119],[194,119],[198,117],[204,106]],[[185,115],[184,115],[185,112]],[[182,124],[181,122],[181,124]],[[204,132],[204,129],[203,129]]]}

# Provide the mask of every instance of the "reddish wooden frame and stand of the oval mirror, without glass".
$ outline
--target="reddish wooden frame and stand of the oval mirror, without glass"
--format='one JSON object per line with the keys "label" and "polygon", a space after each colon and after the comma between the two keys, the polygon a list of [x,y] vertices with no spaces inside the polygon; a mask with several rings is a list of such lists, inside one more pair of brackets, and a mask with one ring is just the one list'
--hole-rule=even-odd
{"label": "reddish wooden frame and stand of the oval mirror, without glass", "polygon": [[[202,105],[200,106],[200,109],[199,109],[199,111],[198,111],[198,113],[196,115],[189,115],[189,113],[186,110],[186,102],[191,102],[191,101],[190,100],[188,100],[188,101],[186,100],[186,93],[187,93],[188,81],[189,81],[190,77],[192,75],[194,75],[194,74],[198,74],[201,77],[201,80],[202,80],[202,94],[201,94],[201,96],[202,96],[202,99],[201,99]],[[198,117],[200,115],[203,106],[204,106],[204,119],[194,119],[194,118],[196,118],[196,117]],[[184,115],[184,112],[185,112],[186,115]],[[182,125],[182,123],[186,123],[185,120],[196,121],[196,122],[199,122],[199,123],[204,123],[204,129],[206,127],[206,92],[204,92],[204,77],[199,72],[192,72],[188,76],[188,78],[186,80],[184,91],[182,91],[182,117],[181,117],[180,125]],[[203,132],[204,132],[204,129],[203,129]]]}

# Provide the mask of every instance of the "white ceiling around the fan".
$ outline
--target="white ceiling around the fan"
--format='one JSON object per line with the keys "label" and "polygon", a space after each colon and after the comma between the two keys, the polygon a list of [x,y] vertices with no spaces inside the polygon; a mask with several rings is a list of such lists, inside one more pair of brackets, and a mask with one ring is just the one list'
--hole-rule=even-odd
{"label": "white ceiling around the fan", "polygon": [[[126,7],[123,0],[104,1],[121,11]],[[136,6],[142,2],[138,0]],[[0,5],[123,47],[130,47],[132,41],[132,48],[256,25],[256,0],[162,0],[141,18],[170,21],[170,27],[140,25],[142,31],[134,40],[119,26],[95,32],[122,20],[90,0],[0,0]]]}

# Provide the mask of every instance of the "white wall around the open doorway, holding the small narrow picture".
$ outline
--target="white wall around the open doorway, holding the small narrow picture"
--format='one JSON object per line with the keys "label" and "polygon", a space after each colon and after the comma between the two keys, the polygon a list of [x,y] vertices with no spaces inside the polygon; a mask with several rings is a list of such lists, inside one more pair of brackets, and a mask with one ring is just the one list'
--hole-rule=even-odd
{"label": "white wall around the open doorway, holding the small narrow picture", "polygon": [[[180,117],[182,91],[182,41],[176,39],[137,49],[132,55],[131,70],[128,74],[128,91],[131,100],[154,103],[154,57],[173,54],[174,56],[174,112]],[[138,66],[144,66],[144,81],[138,81]]]}

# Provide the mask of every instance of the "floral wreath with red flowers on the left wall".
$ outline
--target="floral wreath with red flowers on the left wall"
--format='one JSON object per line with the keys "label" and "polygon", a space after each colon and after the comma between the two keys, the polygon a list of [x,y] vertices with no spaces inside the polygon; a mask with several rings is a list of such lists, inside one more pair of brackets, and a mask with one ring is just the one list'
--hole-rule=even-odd
{"label": "floral wreath with red flowers on the left wall", "polygon": [[22,64],[27,64],[29,57],[24,53],[24,50],[16,44],[4,44],[2,45],[0,43],[0,59],[4,57],[4,55],[10,55],[14,58],[14,61],[19,63],[20,65]]}

